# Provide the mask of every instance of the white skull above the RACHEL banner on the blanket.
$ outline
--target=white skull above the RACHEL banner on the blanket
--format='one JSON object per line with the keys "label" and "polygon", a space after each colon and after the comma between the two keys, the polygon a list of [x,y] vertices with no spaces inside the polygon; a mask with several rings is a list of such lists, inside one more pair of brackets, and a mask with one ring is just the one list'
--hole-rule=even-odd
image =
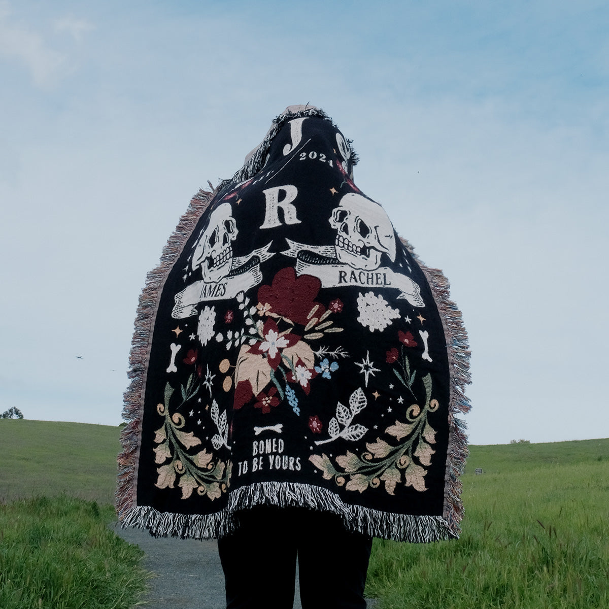
{"label": "white skull above the RACHEL banner on the blanket", "polygon": [[385,210],[361,194],[349,192],[330,217],[336,228],[336,256],[354,269],[374,270],[385,253],[395,261],[395,236]]}

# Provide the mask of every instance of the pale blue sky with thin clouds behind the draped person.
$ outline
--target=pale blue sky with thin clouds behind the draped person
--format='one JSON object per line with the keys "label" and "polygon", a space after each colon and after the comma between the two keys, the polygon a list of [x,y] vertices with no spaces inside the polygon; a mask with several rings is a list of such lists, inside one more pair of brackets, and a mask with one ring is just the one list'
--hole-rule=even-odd
{"label": "pale blue sky with thin clouds behind the draped person", "polygon": [[607,437],[608,31],[606,2],[0,1],[0,410],[118,424],[188,200],[311,102],[451,280],[471,442]]}

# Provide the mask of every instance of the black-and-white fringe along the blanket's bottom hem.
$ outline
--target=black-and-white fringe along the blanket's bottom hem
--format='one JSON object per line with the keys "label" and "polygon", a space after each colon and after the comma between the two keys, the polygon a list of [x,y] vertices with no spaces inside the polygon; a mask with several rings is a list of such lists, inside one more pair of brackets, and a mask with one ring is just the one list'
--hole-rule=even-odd
{"label": "black-and-white fringe along the blanket's bottom hem", "polygon": [[123,527],[148,529],[155,537],[215,539],[224,537],[239,526],[239,512],[256,505],[309,507],[339,515],[349,530],[395,541],[429,543],[454,535],[442,516],[412,516],[348,505],[325,488],[294,482],[259,482],[236,488],[228,495],[224,509],[212,514],[163,513],[149,506],[131,510]]}

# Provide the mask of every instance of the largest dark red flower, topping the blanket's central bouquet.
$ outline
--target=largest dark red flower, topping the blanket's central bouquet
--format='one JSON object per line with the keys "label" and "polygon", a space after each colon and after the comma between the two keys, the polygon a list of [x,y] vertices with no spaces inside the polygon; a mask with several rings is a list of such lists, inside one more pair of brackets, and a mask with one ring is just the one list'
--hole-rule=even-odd
{"label": "largest dark red flower, topping the blanket's central bouquet", "polygon": [[287,267],[276,273],[270,286],[260,286],[258,302],[269,304],[273,314],[305,326],[309,322],[309,312],[315,306],[315,317],[319,318],[326,310],[323,305],[315,302],[320,287],[322,282],[317,277],[297,277],[294,267]]}

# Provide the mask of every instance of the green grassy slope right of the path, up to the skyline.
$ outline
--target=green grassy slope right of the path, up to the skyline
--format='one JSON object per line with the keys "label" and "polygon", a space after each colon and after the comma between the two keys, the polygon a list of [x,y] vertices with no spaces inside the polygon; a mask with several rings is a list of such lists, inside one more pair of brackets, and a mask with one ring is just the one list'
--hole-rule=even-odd
{"label": "green grassy slope right of the path, up to the skyline", "polygon": [[472,446],[469,463],[461,538],[375,540],[367,594],[383,609],[609,607],[609,440]]}

